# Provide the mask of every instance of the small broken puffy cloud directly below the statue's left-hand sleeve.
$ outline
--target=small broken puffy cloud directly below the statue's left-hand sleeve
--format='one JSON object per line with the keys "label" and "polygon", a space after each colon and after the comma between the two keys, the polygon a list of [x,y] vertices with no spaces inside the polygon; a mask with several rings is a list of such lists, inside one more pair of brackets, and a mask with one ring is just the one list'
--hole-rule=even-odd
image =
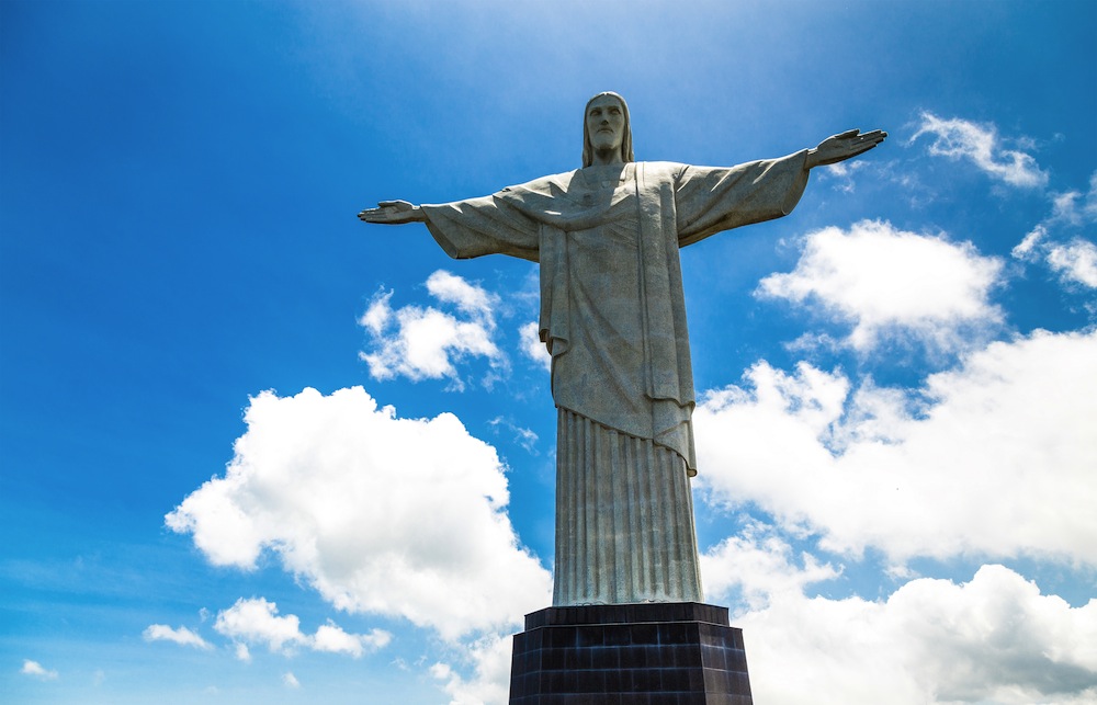
{"label": "small broken puffy cloud directly below the statue's left-hand sleeve", "polygon": [[432,306],[394,310],[393,292],[381,292],[359,319],[371,342],[371,349],[359,356],[374,378],[448,378],[454,389],[462,389],[464,383],[456,363],[480,356],[487,359],[496,374],[506,367],[507,359],[493,340],[497,295],[444,270],[428,277],[427,291],[441,304],[455,308],[456,314]]}

